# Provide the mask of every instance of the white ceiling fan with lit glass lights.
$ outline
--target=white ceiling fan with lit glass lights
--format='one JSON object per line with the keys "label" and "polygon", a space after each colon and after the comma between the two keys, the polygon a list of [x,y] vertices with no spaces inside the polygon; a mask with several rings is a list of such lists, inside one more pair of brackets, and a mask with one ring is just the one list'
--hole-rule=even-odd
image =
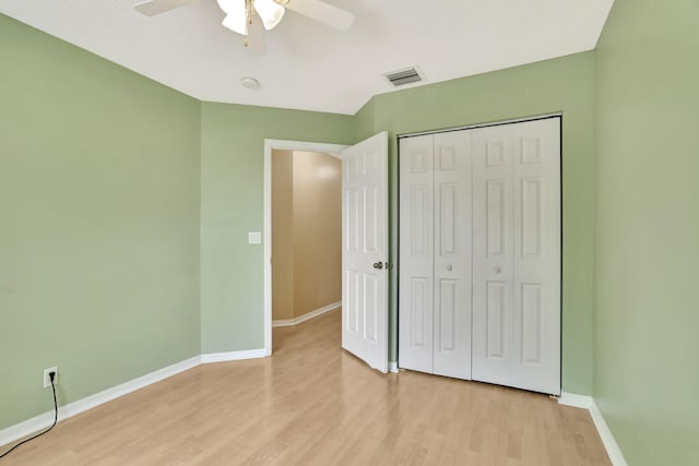
{"label": "white ceiling fan with lit glass lights", "polygon": [[[145,0],[133,8],[154,16],[201,0]],[[226,13],[222,24],[245,36],[245,46],[251,55],[265,51],[264,29],[274,28],[286,10],[316,20],[339,31],[347,29],[354,22],[354,14],[322,0],[216,0]]]}

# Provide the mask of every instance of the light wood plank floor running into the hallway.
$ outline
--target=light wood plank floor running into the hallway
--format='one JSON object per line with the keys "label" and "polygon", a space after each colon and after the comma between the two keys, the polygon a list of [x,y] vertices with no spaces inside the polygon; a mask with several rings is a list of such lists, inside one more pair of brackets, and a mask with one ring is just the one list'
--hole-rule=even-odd
{"label": "light wood plank floor running into the hallway", "polygon": [[59,423],[0,466],[609,464],[588,411],[381,374],[341,349],[340,326],[334,311],[274,328],[272,358],[188,370]]}

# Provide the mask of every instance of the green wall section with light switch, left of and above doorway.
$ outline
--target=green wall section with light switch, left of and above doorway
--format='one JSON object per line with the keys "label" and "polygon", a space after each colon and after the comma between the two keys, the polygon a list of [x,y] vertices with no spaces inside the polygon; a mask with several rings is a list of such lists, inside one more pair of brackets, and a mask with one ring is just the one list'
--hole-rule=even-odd
{"label": "green wall section with light switch, left of and above doorway", "polygon": [[262,231],[264,139],[352,143],[351,116],[242,105],[201,110],[202,353],[264,346]]}

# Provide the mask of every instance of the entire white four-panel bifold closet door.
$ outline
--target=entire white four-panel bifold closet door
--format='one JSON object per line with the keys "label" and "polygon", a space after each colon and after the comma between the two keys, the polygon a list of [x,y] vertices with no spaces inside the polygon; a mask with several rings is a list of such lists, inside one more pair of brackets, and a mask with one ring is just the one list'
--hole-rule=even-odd
{"label": "entire white four-panel bifold closet door", "polygon": [[400,140],[399,366],[560,393],[560,120]]}

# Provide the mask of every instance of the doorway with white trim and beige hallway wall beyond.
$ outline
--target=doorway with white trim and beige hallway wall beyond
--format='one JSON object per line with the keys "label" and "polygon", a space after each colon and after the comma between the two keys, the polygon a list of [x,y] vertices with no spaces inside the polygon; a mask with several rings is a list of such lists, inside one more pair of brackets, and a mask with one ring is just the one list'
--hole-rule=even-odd
{"label": "doorway with white trim and beige hallway wall beyond", "polygon": [[265,140],[264,348],[272,326],[342,306],[342,160],[346,146]]}

